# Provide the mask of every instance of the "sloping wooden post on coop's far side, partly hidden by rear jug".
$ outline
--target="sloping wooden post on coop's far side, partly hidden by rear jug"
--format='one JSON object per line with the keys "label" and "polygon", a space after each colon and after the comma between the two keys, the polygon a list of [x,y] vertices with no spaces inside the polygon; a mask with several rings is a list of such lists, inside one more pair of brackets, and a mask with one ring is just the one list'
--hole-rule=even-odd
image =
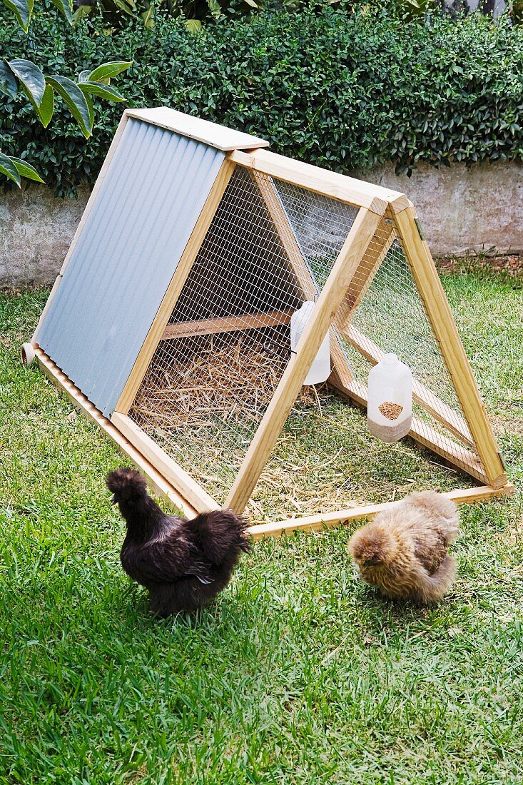
{"label": "sloping wooden post on coop's far side, partly hidden by rear jug", "polygon": [[[253,177],[253,182],[262,195],[267,210],[269,210],[269,215],[276,228],[276,232],[278,232],[283,249],[287,254],[292,271],[294,272],[294,277],[302,290],[302,296],[305,300],[313,301],[316,298],[316,295],[319,294],[318,288],[309,267],[303,258],[302,249],[298,244],[294,230],[289,224],[287,215],[281,206],[280,197],[278,196],[274,183],[264,177],[258,177],[256,179]],[[337,382],[338,379],[343,382],[349,382],[353,378],[353,375],[342,347],[339,345],[338,338],[332,329],[330,331],[330,347],[332,371],[329,379],[331,380],[332,385],[335,385],[335,382]]]}

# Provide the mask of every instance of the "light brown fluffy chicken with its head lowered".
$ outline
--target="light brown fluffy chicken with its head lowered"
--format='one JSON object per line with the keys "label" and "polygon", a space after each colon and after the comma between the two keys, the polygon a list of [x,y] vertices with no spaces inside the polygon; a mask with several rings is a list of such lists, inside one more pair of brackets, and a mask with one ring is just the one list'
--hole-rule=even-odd
{"label": "light brown fluffy chicken with its head lowered", "polygon": [[387,597],[435,602],[455,579],[455,559],[447,548],[458,531],[454,502],[435,491],[422,491],[396,502],[356,531],[349,552],[361,578]]}

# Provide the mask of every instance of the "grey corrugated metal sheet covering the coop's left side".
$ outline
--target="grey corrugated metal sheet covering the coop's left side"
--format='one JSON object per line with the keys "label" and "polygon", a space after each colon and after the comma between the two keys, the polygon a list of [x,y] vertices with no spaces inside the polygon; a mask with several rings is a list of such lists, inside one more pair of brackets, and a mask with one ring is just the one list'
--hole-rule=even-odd
{"label": "grey corrugated metal sheet covering the coop's left side", "polygon": [[225,153],[130,119],[36,341],[115,409]]}

